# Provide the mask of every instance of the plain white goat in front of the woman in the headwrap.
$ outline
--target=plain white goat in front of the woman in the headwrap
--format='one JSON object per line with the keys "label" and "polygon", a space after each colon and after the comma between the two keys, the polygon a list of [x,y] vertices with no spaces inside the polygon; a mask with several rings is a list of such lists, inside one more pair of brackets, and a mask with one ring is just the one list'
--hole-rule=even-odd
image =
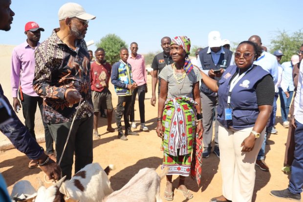
{"label": "plain white goat in front of the woman in the headwrap", "polygon": [[168,173],[166,167],[160,175],[152,168],[143,168],[120,190],[105,197],[102,202],[162,202],[160,181]]}

